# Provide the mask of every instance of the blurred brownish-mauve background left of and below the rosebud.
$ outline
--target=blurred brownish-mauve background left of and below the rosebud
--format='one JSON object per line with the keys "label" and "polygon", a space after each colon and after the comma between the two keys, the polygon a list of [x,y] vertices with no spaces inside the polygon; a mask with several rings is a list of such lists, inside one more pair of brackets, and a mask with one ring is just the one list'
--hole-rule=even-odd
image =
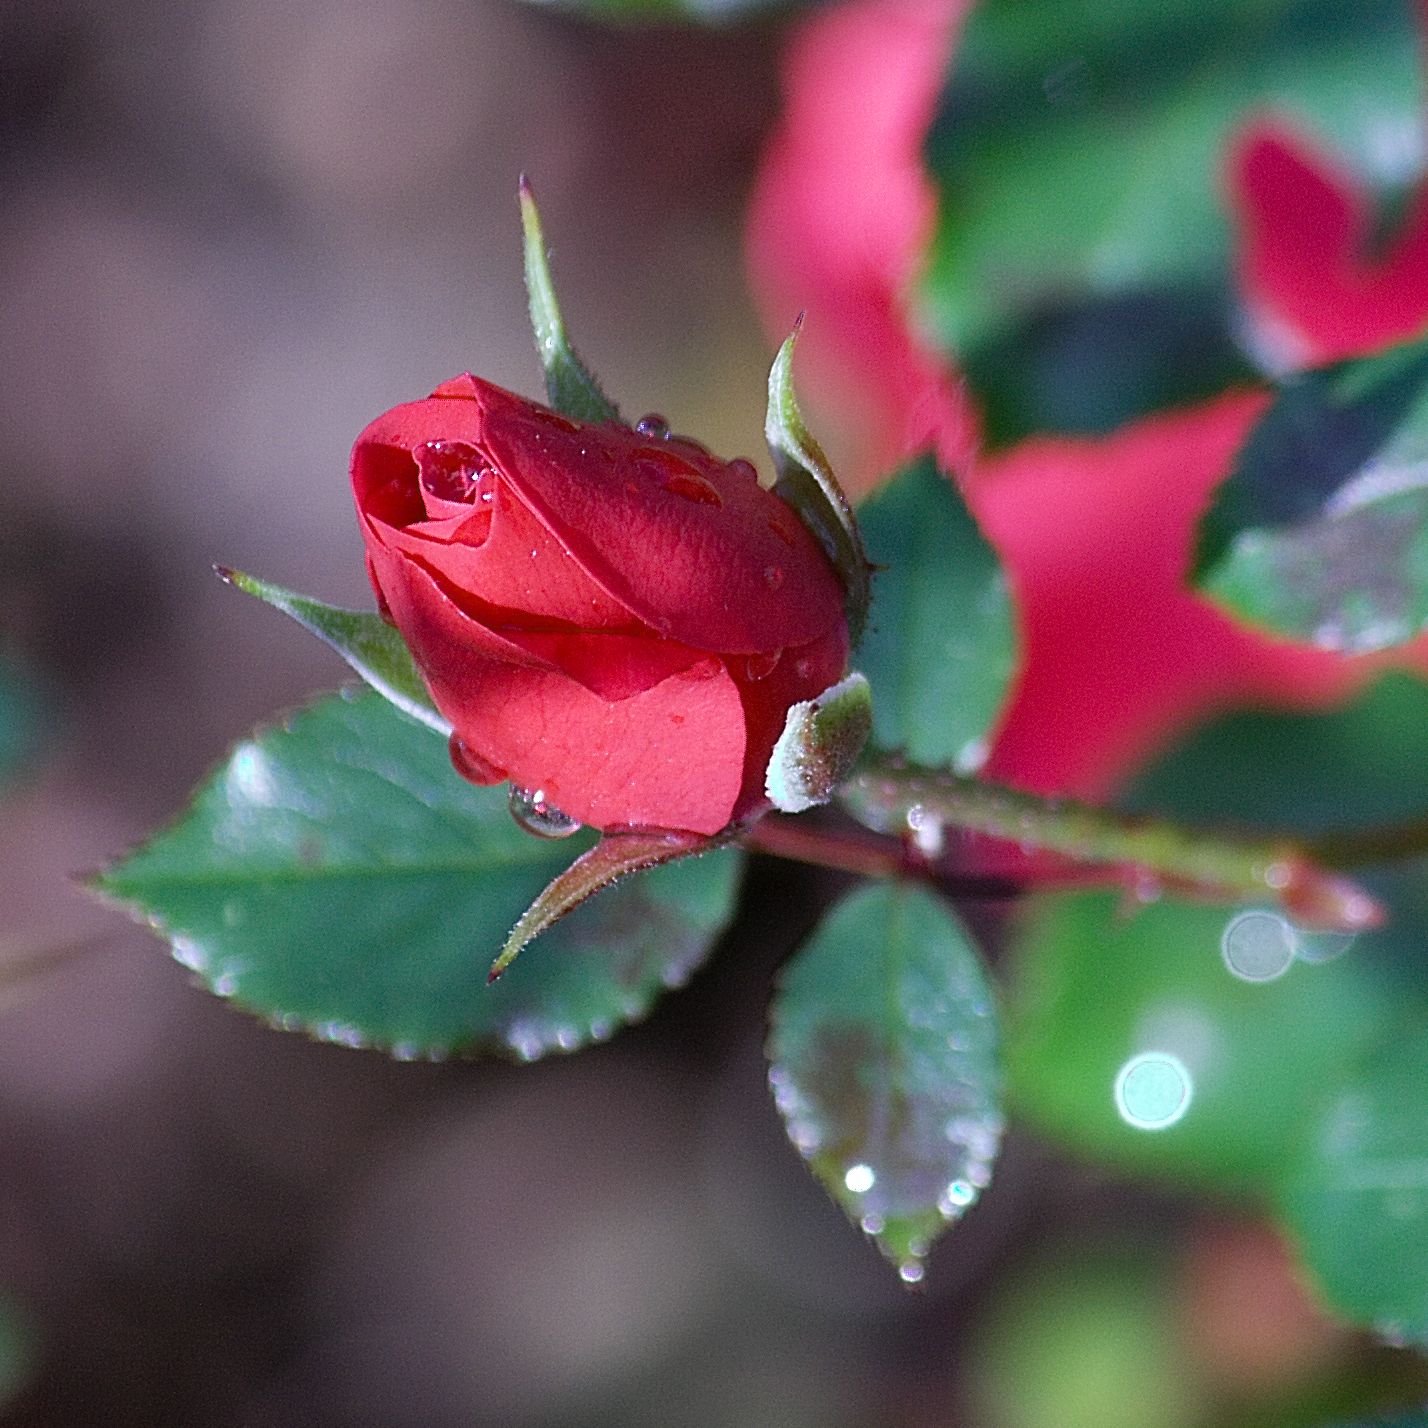
{"label": "blurred brownish-mauve background left of and below the rosebud", "polygon": [[[758,454],[740,224],[780,39],[497,0],[0,7],[0,640],[49,708],[0,801],[0,1421],[1050,1422],[1018,1334],[1140,1428],[1244,1387],[1165,1325],[1220,1324],[1237,1267],[1288,1284],[1257,1231],[1014,1141],[910,1294],[824,1200],[760,1054],[811,874],[755,865],[694,987],[533,1068],[267,1030],[71,887],[341,678],[211,563],[364,604],[357,430],[466,368],[538,390],[521,170],[624,410]],[[1080,1352],[1088,1282],[1114,1332]],[[1241,1331],[1287,1335],[1272,1384],[1341,1351],[1285,1294]]]}

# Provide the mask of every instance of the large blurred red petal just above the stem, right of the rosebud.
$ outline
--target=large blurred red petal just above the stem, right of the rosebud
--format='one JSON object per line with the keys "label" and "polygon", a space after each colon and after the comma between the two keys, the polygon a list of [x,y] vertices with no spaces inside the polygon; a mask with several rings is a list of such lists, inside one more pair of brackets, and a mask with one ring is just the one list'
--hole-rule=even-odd
{"label": "large blurred red petal just above the stem, right of the rosebud", "polygon": [[[990,777],[1102,797],[1220,707],[1321,705],[1387,663],[1272,640],[1187,588],[1195,523],[1268,401],[1241,391],[1110,437],[1034,438],[975,474],[1025,638]],[[1428,665],[1428,645],[1405,660]]]}

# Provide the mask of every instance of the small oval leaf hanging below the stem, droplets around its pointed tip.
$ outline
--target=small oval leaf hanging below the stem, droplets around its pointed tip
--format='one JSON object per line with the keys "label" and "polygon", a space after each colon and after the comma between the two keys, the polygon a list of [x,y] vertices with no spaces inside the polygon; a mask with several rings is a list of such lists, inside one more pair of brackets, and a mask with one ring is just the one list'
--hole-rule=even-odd
{"label": "small oval leaf hanging below the stem, droplets around its pointed tip", "polygon": [[844,898],[784,970],[768,1054],[794,1145],[920,1279],[1001,1144],[995,1005],[961,922],[910,884]]}

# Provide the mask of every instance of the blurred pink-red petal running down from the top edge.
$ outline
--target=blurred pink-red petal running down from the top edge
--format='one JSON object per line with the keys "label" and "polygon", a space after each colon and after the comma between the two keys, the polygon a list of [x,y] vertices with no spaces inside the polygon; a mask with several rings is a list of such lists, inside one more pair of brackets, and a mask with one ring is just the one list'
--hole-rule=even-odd
{"label": "blurred pink-red petal running down from the top edge", "polygon": [[975,444],[962,384],[908,313],[937,206],[922,140],[968,9],[854,0],[811,16],[754,186],[754,294],[780,338],[808,310],[800,384],[853,441],[840,480],[854,494],[932,444],[961,468]]}

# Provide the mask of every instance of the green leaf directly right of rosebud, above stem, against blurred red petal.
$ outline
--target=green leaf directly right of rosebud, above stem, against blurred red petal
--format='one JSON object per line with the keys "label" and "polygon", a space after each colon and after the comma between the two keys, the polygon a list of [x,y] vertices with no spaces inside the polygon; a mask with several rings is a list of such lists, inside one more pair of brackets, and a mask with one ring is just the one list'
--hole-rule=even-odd
{"label": "green leaf directly right of rosebud, above stem, against blurred red petal", "polygon": [[1007,575],[957,484],[908,467],[858,510],[878,568],[858,664],[873,740],[914,763],[974,773],[1017,673]]}

